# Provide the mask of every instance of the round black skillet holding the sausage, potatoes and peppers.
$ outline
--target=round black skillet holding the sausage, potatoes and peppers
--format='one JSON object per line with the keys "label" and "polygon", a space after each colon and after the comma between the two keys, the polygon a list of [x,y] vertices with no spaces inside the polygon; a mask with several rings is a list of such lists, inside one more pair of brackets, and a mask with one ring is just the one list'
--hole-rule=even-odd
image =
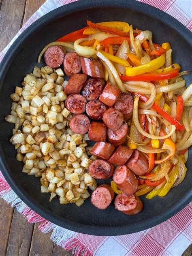
{"label": "round black skillet holding the sausage, potatoes and peppers", "polygon": [[[90,198],[81,207],[74,204],[60,205],[58,200],[49,203],[49,194],[41,194],[40,182],[34,176],[22,173],[22,163],[16,160],[16,150],[9,143],[13,125],[4,121],[10,113],[15,86],[20,85],[26,73],[32,72],[38,54],[48,43],[86,26],[86,19],[99,21],[126,21],[133,27],[153,32],[156,43],[169,42],[173,49],[173,63],[182,70],[192,66],[191,33],[179,21],[166,13],[131,0],[83,0],[67,4],[34,22],[13,43],[0,68],[0,170],[15,193],[34,211],[47,220],[91,235],[124,235],[145,230],[163,222],[185,207],[191,199],[192,150],[188,159],[188,172],[184,181],[171,189],[165,197],[151,200],[141,197],[144,209],[138,215],[128,216],[114,209],[113,203],[106,210],[96,209]],[[187,85],[192,76],[185,77]]]}

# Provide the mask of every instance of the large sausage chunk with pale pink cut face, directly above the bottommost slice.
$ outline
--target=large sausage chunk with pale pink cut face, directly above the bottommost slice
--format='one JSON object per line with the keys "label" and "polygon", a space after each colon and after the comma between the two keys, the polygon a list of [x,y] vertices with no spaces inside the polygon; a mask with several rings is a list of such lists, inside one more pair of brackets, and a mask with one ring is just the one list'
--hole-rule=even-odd
{"label": "large sausage chunk with pale pink cut face, directly above the bottommost slice", "polygon": [[117,166],[113,173],[113,181],[128,196],[134,194],[138,188],[138,180],[126,165]]}

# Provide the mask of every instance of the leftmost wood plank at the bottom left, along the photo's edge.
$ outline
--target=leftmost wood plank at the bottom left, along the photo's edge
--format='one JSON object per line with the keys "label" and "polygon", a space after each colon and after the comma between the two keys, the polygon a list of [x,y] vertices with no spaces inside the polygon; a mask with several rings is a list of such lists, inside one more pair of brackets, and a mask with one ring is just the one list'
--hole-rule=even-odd
{"label": "leftmost wood plank at the bottom left, along the photo's edge", "polygon": [[0,255],[6,255],[9,231],[13,216],[13,208],[0,198]]}

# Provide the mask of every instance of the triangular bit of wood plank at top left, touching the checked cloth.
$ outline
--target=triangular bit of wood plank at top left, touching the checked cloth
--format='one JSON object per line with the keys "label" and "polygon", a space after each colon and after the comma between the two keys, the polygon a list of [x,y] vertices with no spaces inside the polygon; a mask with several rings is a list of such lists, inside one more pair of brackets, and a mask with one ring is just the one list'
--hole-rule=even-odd
{"label": "triangular bit of wood plank at top left, touching the checked cloth", "polygon": [[26,0],[25,14],[23,24],[45,3],[46,0]]}

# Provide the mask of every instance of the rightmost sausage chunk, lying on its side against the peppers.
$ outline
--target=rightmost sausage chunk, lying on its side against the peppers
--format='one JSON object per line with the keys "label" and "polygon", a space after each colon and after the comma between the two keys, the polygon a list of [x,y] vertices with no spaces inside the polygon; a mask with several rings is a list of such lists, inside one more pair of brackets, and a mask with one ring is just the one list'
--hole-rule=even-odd
{"label": "rightmost sausage chunk, lying on its side against the peppers", "polygon": [[136,175],[144,175],[148,170],[148,162],[144,154],[135,149],[126,166]]}

